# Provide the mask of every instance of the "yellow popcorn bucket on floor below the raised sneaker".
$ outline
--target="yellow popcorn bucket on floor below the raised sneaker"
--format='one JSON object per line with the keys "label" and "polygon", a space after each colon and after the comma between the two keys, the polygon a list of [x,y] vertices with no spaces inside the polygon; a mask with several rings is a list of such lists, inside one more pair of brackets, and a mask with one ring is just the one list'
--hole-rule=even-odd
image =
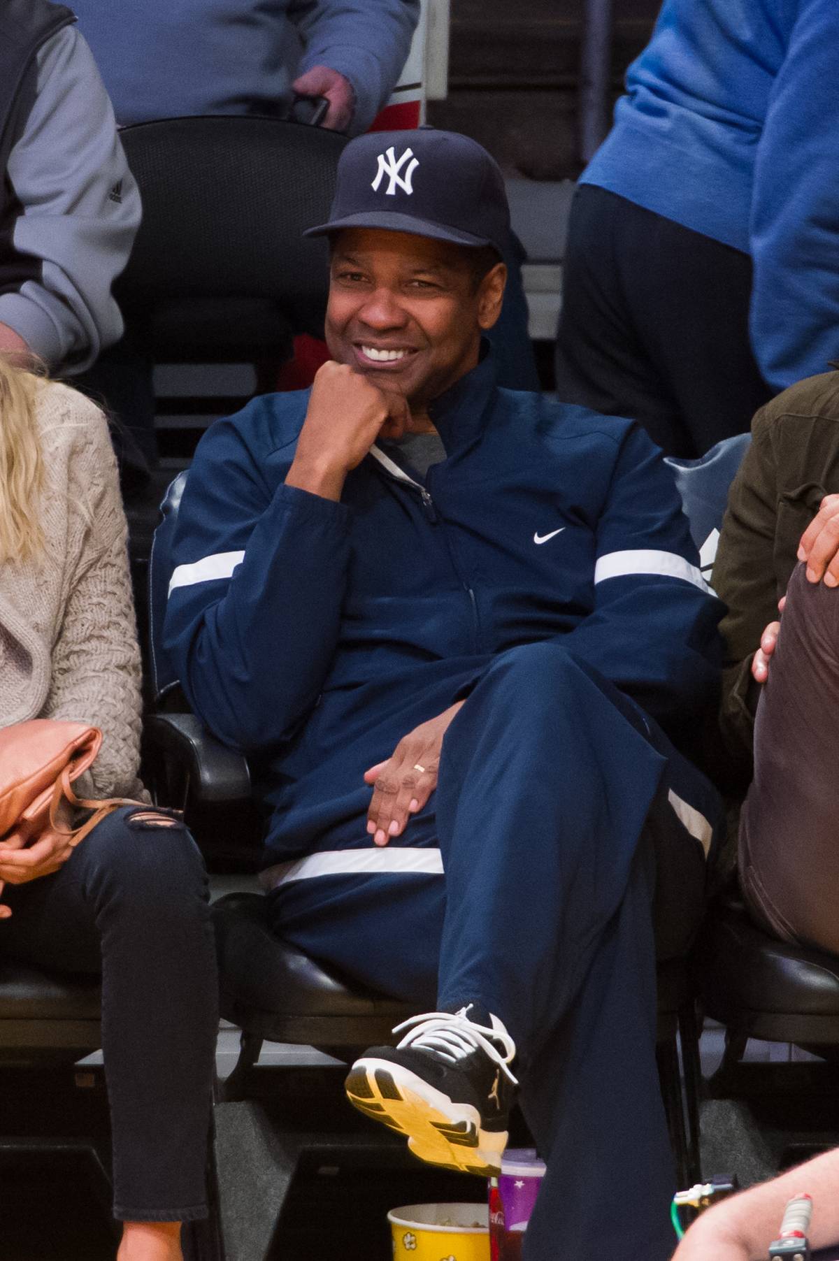
{"label": "yellow popcorn bucket on floor below the raised sneaker", "polygon": [[406,1204],[387,1221],[395,1261],[490,1261],[487,1204]]}

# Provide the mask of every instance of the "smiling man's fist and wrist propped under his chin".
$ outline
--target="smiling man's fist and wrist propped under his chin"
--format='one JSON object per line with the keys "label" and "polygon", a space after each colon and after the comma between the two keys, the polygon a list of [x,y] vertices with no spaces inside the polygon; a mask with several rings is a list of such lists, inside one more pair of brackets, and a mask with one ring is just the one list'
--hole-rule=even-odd
{"label": "smiling man's fist and wrist propped under his chin", "polygon": [[385,393],[347,363],[318,368],[286,485],[339,499],[344,478],[377,438],[401,438],[410,426],[404,395]]}

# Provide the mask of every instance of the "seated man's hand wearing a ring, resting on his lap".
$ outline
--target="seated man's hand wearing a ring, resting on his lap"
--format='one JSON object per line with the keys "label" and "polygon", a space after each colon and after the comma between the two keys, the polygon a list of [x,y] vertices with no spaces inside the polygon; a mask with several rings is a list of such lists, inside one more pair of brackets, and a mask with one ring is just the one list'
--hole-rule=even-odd
{"label": "seated man's hand wearing a ring, resting on his lap", "polygon": [[462,705],[458,701],[420,723],[402,736],[391,758],[365,770],[365,783],[373,786],[367,831],[376,845],[387,845],[391,836],[399,836],[437,788],[443,736]]}

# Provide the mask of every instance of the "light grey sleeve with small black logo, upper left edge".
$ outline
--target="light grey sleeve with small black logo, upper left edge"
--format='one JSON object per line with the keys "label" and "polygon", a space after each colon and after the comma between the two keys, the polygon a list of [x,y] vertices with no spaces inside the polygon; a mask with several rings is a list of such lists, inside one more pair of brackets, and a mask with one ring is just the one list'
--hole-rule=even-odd
{"label": "light grey sleeve with small black logo, upper left edge", "polygon": [[140,194],[73,26],[38,53],[35,100],[6,174],[20,211],[11,259],[0,256],[0,323],[50,369],[82,372],[122,333],[111,285],[140,223]]}

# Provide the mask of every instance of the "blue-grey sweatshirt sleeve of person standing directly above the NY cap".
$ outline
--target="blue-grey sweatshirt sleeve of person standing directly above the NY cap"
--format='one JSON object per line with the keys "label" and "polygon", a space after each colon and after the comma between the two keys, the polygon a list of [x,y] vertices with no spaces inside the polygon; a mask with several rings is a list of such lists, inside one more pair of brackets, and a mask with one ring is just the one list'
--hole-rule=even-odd
{"label": "blue-grey sweatshirt sleeve of person standing directly above the NY cap", "polygon": [[328,66],[352,84],[349,135],[366,131],[399,82],[419,21],[419,0],[291,0],[305,45],[298,74]]}

